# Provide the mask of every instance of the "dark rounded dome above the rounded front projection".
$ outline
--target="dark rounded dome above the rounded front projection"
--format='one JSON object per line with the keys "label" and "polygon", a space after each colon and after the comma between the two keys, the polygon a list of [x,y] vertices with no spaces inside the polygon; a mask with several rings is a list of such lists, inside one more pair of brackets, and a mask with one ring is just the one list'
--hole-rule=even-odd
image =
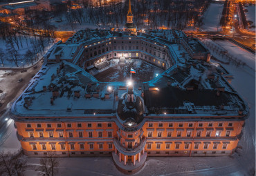
{"label": "dark rounded dome above the rounded front projection", "polygon": [[127,93],[118,101],[118,116],[122,121],[130,124],[140,124],[143,121],[144,106],[140,97],[134,95],[135,101],[127,102]]}

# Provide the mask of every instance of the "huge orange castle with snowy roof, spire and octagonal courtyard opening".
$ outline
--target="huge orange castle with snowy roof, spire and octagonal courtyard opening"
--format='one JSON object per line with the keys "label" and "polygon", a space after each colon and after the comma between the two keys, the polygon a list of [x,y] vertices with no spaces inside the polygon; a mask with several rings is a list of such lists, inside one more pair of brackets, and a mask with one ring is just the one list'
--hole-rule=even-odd
{"label": "huge orange castle with snowy roof, spire and octagonal courtyard opening", "polygon": [[[130,1],[127,24],[133,26]],[[182,31],[81,30],[44,59],[11,110],[28,156],[112,157],[118,170],[133,174],[147,157],[219,157],[237,148],[248,106],[228,70]],[[163,72],[133,84],[94,77],[121,68],[118,59]]]}

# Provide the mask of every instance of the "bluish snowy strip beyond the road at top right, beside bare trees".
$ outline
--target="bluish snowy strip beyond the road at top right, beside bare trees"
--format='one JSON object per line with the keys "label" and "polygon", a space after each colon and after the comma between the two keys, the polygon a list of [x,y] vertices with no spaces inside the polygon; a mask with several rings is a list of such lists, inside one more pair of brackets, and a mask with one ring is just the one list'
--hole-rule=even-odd
{"label": "bluish snowy strip beyond the road at top right, beside bare trees", "polygon": [[[219,28],[219,21],[221,20],[221,13],[223,10],[223,3],[211,3],[203,17],[203,31],[217,31]],[[220,30],[221,28],[219,28]]]}

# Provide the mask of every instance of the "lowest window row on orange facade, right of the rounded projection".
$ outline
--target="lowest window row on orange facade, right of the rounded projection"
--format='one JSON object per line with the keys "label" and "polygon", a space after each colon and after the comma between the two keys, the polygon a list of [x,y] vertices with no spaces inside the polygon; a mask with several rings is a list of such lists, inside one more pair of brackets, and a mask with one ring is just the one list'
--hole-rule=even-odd
{"label": "lowest window row on orange facade, right of the rounded projection", "polygon": [[195,141],[194,144],[192,142],[181,142],[176,141],[172,144],[172,142],[158,142],[156,141],[155,144],[153,142],[147,142],[147,150],[221,150],[221,149],[228,149],[229,141]]}

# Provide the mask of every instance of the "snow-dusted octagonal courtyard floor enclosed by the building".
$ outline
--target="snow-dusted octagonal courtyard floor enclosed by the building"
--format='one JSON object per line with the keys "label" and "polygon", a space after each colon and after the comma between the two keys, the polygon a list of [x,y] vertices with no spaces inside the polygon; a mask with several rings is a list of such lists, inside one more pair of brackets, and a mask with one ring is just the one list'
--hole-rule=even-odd
{"label": "snow-dusted octagonal courtyard floor enclosed by the building", "polygon": [[136,70],[135,74],[132,74],[132,79],[134,81],[149,81],[156,74],[163,72],[161,68],[153,66],[150,63],[147,63],[138,59],[126,59],[125,66],[113,66],[103,72],[98,73],[94,77],[99,81],[113,82],[113,81],[125,81],[130,77],[130,69],[133,68]]}

